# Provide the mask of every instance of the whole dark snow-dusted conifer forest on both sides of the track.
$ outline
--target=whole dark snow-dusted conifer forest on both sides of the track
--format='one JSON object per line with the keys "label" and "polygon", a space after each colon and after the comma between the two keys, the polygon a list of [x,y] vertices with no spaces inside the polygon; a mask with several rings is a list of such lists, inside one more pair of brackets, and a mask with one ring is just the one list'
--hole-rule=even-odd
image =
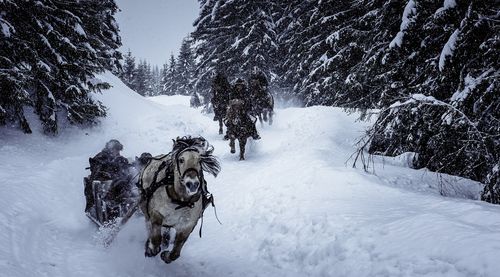
{"label": "whole dark snow-dusted conifer forest on both sides of the track", "polygon": [[[95,123],[103,70],[138,93],[210,100],[217,73],[254,68],[277,96],[375,120],[360,151],[415,153],[414,168],[485,184],[500,203],[500,9],[497,0],[199,0],[194,31],[163,68],[122,59],[113,0],[0,1],[0,125],[46,133]],[[121,64],[120,64],[121,62]]]}

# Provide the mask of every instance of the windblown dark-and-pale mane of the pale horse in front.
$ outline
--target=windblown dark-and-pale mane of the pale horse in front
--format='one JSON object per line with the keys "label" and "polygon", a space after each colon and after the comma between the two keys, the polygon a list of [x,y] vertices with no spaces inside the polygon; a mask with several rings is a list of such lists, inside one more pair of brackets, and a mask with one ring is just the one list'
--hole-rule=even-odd
{"label": "windblown dark-and-pale mane of the pale horse in front", "polygon": [[203,137],[184,136],[177,137],[174,141],[174,147],[172,149],[172,159],[177,159],[178,155],[185,150],[196,150],[200,153],[200,163],[203,171],[208,172],[214,177],[217,177],[221,167],[217,160],[217,157],[213,156],[214,147],[208,143],[208,141]]}

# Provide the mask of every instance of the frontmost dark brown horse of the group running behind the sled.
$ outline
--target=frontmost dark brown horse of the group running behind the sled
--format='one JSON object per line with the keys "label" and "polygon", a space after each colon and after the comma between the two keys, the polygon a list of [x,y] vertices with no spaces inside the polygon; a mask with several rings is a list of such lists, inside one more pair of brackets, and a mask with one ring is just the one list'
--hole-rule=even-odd
{"label": "frontmost dark brown horse of the group running behind the sled", "polygon": [[224,120],[228,129],[231,153],[236,153],[235,141],[238,140],[240,145],[240,160],[245,159],[245,146],[247,139],[252,136],[252,125],[255,124],[247,115],[244,105],[243,100],[230,100]]}

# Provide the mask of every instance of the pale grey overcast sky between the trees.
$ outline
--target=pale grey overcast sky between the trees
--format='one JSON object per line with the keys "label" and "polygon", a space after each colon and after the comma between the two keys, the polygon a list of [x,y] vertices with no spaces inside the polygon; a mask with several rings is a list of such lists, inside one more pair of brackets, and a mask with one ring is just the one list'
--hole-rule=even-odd
{"label": "pale grey overcast sky between the trees", "polygon": [[130,48],[137,59],[161,66],[177,55],[182,39],[193,31],[197,0],[116,0],[116,15],[125,54]]}

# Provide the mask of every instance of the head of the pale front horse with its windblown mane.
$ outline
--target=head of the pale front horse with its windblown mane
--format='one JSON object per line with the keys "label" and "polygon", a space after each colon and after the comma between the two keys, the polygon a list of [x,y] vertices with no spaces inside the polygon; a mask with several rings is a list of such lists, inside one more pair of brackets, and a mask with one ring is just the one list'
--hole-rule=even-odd
{"label": "head of the pale front horse with its windblown mane", "polygon": [[217,176],[220,165],[212,152],[213,147],[201,137],[183,137],[174,141],[174,189],[181,198],[188,199],[202,192],[203,171]]}

